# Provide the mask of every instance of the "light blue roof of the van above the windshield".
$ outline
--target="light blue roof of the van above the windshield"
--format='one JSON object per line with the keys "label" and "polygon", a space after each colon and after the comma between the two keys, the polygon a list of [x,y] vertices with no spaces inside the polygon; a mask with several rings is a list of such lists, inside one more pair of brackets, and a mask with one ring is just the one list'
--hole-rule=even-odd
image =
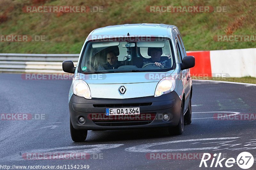
{"label": "light blue roof of the van above the windshield", "polygon": [[114,25],[114,26],[106,26],[102,28],[97,28],[93,30],[88,37],[90,39],[99,39],[97,37],[108,37],[110,36],[171,36],[172,31],[170,29],[177,28],[173,25],[166,24],[123,24],[123,25]]}

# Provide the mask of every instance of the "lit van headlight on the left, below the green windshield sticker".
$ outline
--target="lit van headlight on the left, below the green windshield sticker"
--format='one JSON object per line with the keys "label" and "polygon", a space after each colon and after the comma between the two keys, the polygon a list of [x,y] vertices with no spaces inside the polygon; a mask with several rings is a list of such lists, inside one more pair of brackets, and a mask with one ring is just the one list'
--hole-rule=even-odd
{"label": "lit van headlight on the left, below the green windshield sticker", "polygon": [[72,90],[76,96],[92,99],[90,88],[84,80],[75,80]]}

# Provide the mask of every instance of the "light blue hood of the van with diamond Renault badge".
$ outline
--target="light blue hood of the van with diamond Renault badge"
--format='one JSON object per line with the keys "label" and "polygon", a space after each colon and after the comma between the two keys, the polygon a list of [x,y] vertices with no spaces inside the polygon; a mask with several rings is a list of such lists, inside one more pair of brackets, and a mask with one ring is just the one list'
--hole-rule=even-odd
{"label": "light blue hood of the van with diamond Renault badge", "polygon": [[77,76],[88,84],[92,98],[129,99],[154,96],[158,82],[170,76],[173,71],[90,75],[78,73]]}

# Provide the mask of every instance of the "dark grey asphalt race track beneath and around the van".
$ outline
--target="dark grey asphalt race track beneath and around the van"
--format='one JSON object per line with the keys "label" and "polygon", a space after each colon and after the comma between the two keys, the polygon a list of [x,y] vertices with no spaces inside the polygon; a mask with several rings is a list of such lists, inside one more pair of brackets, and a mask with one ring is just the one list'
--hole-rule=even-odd
{"label": "dark grey asphalt race track beneath and around the van", "polygon": [[[1,166],[198,169],[201,161],[196,156],[198,154],[221,153],[223,158],[236,159],[239,153],[250,152],[254,156],[250,169],[256,169],[255,118],[213,118],[221,116],[217,114],[255,115],[256,86],[193,81],[193,120],[192,124],[184,127],[180,136],[169,136],[166,129],[89,131],[85,142],[74,143],[69,132],[68,90],[71,80],[24,80],[20,74],[0,74],[0,82],[2,115],[23,113],[32,117],[35,114],[43,116],[43,120],[36,120],[36,117],[34,120],[3,120],[2,117]],[[26,156],[32,153],[34,156],[39,153],[89,153],[90,157],[73,160],[34,157],[37,160],[28,160],[30,157]],[[182,155],[182,158],[173,156],[167,159],[164,157],[166,153]],[[191,154],[194,159],[186,158]],[[159,155],[163,160],[159,160]],[[208,168],[213,160],[216,162],[217,158],[207,161]],[[222,161],[224,167],[225,161]],[[228,169],[224,167],[218,165],[209,169]],[[208,168],[203,165],[199,169]],[[235,163],[229,169],[241,168]]]}

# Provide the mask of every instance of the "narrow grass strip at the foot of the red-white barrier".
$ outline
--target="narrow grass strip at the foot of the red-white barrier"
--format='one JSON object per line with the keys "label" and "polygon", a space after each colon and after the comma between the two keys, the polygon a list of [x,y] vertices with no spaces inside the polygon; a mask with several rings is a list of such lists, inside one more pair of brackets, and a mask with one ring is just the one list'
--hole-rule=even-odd
{"label": "narrow grass strip at the foot of the red-white barrier", "polygon": [[204,80],[218,80],[218,81],[231,81],[231,82],[240,82],[240,83],[251,83],[256,84],[256,78],[254,77],[241,77],[241,78],[235,78],[235,77],[229,77],[229,78],[212,78],[212,77],[193,77],[193,79],[204,79]]}

